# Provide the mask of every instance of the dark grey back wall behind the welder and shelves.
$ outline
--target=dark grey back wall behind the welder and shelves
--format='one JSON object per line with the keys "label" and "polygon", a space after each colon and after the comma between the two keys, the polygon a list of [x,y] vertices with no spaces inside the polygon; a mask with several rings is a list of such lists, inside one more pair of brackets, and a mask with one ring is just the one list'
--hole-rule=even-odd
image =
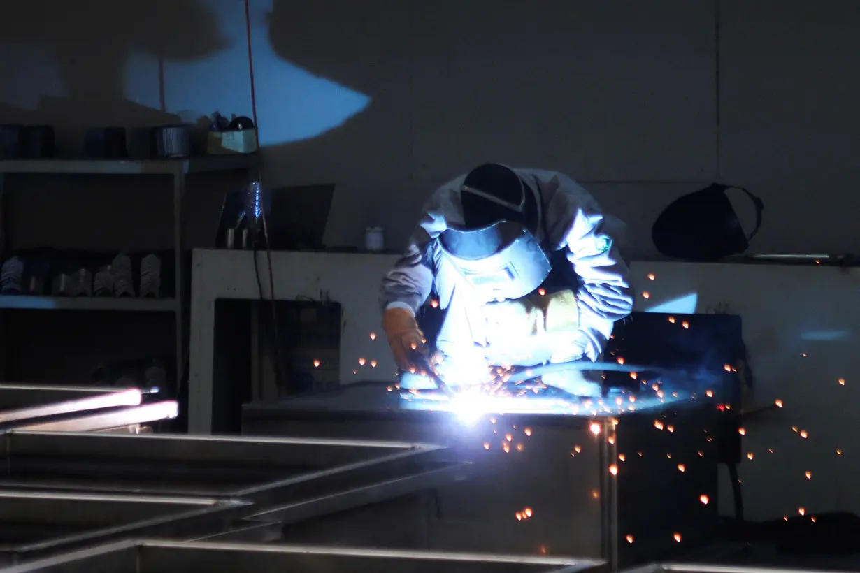
{"label": "dark grey back wall behind the welder and shelves", "polygon": [[[301,4],[250,2],[256,107],[268,183],[337,184],[329,244],[382,225],[399,247],[433,186],[495,160],[586,182],[640,258],[660,209],[715,179],[765,199],[758,252],[855,246],[856,3]],[[58,125],[69,152],[84,125],[253,112],[242,0],[4,3],[0,30],[0,121]],[[233,185],[189,193],[189,245]],[[9,186],[13,244],[169,243],[162,184]]]}

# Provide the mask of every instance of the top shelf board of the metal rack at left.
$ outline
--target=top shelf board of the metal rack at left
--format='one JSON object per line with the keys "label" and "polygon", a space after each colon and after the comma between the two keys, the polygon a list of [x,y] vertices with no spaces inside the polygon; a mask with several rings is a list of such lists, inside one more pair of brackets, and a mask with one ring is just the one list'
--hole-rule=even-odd
{"label": "top shelf board of the metal rack at left", "polygon": [[8,159],[0,161],[0,174],[181,175],[247,169],[257,162],[256,153],[153,160]]}

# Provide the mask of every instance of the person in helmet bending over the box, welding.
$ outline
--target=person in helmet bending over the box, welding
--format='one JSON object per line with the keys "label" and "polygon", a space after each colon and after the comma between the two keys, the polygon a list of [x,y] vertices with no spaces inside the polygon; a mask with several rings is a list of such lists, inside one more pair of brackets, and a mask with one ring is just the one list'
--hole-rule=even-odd
{"label": "person in helmet bending over the box, welding", "polygon": [[[433,387],[408,375],[426,361],[452,387],[488,381],[493,367],[596,361],[633,308],[623,229],[554,171],[488,163],[439,187],[381,287],[401,386]],[[431,295],[445,312],[432,357],[415,320]],[[602,389],[576,371],[544,383]]]}

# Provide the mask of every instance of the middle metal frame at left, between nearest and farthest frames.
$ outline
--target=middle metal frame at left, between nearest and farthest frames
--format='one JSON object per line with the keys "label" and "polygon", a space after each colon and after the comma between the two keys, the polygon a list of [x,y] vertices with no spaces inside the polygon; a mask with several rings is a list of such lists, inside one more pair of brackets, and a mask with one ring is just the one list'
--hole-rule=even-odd
{"label": "middle metal frame at left, between nearest and farthest frames", "polygon": [[246,505],[207,497],[0,490],[0,564],[132,536],[188,539],[230,527]]}

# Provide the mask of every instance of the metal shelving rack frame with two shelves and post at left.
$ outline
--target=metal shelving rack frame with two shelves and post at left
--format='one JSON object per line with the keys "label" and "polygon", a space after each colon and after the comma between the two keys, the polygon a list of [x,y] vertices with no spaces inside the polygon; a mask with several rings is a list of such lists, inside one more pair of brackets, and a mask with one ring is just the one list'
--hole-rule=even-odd
{"label": "metal shelving rack frame with two shelves and post at left", "polygon": [[212,155],[187,159],[14,159],[0,161],[0,252],[6,247],[4,222],[4,183],[6,174],[67,174],[67,175],[170,175],[173,178],[173,231],[175,298],[122,299],[122,298],[63,298],[52,296],[0,296],[0,309],[33,310],[109,310],[140,312],[173,312],[176,334],[176,384],[184,371],[184,277],[182,272],[182,198],[185,195],[186,176],[194,173],[211,173],[235,169],[256,168],[259,154]]}

